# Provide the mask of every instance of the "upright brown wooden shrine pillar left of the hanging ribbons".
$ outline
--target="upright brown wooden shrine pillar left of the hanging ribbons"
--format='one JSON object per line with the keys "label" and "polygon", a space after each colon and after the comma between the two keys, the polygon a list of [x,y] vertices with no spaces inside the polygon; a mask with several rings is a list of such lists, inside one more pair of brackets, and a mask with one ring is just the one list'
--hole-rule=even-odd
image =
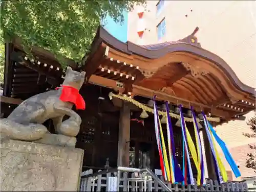
{"label": "upright brown wooden shrine pillar left of the hanging ribbons", "polygon": [[118,131],[117,166],[129,167],[131,110],[122,101]]}

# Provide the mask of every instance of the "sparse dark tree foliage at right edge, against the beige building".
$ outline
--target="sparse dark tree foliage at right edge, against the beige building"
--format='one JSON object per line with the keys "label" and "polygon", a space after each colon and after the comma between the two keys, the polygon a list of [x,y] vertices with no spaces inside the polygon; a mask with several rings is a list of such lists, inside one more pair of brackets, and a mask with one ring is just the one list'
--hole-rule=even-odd
{"label": "sparse dark tree foliage at right edge, against the beige building", "polygon": [[[244,133],[244,136],[249,137],[249,138],[256,138],[255,137],[256,136],[255,122],[256,122],[256,113],[247,122],[247,125],[250,126],[250,130],[252,131],[252,133]],[[249,148],[253,149],[254,151],[256,150],[255,145],[249,145]],[[256,173],[255,153],[253,153],[253,154],[249,153],[249,154],[247,154],[247,156],[248,156],[248,158],[246,159],[246,167],[253,169],[254,172]]]}

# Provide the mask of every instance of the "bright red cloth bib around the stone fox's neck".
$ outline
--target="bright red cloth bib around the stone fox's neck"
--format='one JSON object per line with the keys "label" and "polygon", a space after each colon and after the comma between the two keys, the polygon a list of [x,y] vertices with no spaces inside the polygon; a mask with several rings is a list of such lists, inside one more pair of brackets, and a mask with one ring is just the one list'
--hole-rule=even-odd
{"label": "bright red cloth bib around the stone fox's neck", "polygon": [[[73,103],[76,109],[86,109],[86,102],[83,100],[78,89],[67,85],[62,85],[62,87],[59,97],[61,101]],[[57,89],[59,89],[59,87],[57,87],[56,90]]]}

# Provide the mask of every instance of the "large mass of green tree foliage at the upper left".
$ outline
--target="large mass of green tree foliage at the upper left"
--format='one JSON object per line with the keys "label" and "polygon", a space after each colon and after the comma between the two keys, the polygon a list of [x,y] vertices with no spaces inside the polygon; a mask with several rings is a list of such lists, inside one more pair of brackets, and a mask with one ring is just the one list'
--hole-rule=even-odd
{"label": "large mass of green tree foliage at the upper left", "polygon": [[60,62],[62,57],[78,62],[106,15],[123,21],[123,11],[144,4],[131,0],[2,0],[1,29],[5,41],[19,37],[30,56],[31,46],[39,46],[55,54]]}

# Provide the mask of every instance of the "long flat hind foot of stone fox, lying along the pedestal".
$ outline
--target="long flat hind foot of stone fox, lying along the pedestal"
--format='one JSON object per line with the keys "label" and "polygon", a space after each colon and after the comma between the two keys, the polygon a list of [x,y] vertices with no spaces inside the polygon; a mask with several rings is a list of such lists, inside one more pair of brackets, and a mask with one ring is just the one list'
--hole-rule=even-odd
{"label": "long flat hind foot of stone fox, lying along the pedestal", "polygon": [[8,118],[2,118],[1,136],[11,139],[34,141],[42,138],[48,131],[44,125],[29,123],[28,125],[19,124]]}

